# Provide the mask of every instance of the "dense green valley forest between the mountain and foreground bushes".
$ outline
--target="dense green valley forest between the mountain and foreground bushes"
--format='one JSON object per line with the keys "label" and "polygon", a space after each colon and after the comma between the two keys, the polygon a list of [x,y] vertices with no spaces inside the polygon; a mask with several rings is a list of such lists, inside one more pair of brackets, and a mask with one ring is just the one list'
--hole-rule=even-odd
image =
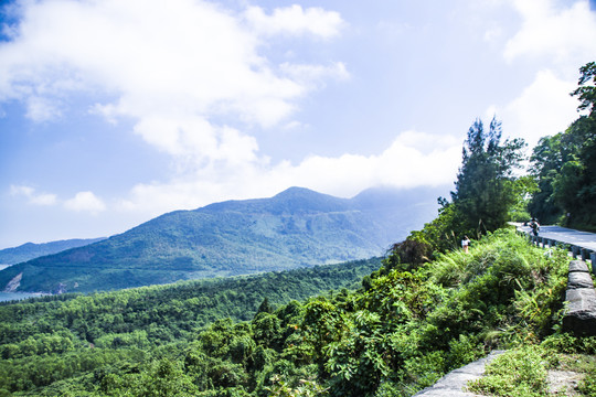
{"label": "dense green valley forest between the mountain and foreground bushes", "polygon": [[[230,319],[226,321],[232,324],[251,320],[273,304],[330,290],[347,293],[345,288],[359,287],[362,277],[380,264],[380,258],[373,258],[258,276],[4,302],[0,304],[0,396],[2,390],[38,395],[40,387],[107,371],[106,365],[138,366],[166,352],[179,355],[181,346],[217,319]],[[60,395],[51,390],[43,394]]]}

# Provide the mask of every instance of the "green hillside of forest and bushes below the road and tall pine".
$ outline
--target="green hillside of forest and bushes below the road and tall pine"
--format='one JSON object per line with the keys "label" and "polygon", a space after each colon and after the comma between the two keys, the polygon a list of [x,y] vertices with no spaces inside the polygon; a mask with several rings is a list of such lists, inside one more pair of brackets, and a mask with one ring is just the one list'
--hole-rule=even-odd
{"label": "green hillside of forest and bushes below the road and tall pine", "polygon": [[0,395],[411,396],[496,347],[595,353],[556,332],[563,250],[501,230],[409,271],[396,255],[301,302],[379,261],[1,305]]}

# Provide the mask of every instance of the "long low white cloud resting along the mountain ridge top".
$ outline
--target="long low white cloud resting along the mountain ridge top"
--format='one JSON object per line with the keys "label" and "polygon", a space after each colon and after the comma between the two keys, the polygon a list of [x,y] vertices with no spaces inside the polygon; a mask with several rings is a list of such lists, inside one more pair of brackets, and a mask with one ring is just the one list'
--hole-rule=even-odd
{"label": "long low white cloud resting along the mountain ridge top", "polygon": [[[429,142],[438,144],[430,149]],[[158,215],[222,200],[268,196],[294,185],[344,197],[375,184],[441,185],[454,181],[460,162],[457,138],[407,131],[375,155],[311,155],[296,165],[245,161],[202,168],[168,183],[138,184],[119,207]]]}

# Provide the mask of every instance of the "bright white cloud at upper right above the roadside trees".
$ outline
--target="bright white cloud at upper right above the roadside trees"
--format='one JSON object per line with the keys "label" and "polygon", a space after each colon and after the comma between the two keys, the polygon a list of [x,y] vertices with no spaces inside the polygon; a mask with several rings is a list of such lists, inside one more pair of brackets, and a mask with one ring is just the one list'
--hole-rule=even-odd
{"label": "bright white cloud at upper right above the roadside trees", "polygon": [[596,54],[596,13],[586,0],[509,0],[522,24],[505,44],[503,57],[513,64],[538,62],[532,82],[504,106],[492,106],[503,128],[532,149],[540,138],[564,131],[577,118],[578,68]]}

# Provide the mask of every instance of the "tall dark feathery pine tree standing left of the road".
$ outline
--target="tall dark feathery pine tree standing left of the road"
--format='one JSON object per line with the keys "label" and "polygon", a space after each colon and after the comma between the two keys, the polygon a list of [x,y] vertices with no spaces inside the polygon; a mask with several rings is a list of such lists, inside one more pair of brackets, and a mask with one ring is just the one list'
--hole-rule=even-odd
{"label": "tall dark feathery pine tree standing left of the road", "polygon": [[439,215],[408,239],[422,242],[439,251],[454,249],[465,235],[479,238],[504,227],[532,183],[518,178],[523,159],[522,139],[501,141],[501,122],[493,118],[488,131],[480,119],[468,130],[462,161],[451,201],[439,197]]}

